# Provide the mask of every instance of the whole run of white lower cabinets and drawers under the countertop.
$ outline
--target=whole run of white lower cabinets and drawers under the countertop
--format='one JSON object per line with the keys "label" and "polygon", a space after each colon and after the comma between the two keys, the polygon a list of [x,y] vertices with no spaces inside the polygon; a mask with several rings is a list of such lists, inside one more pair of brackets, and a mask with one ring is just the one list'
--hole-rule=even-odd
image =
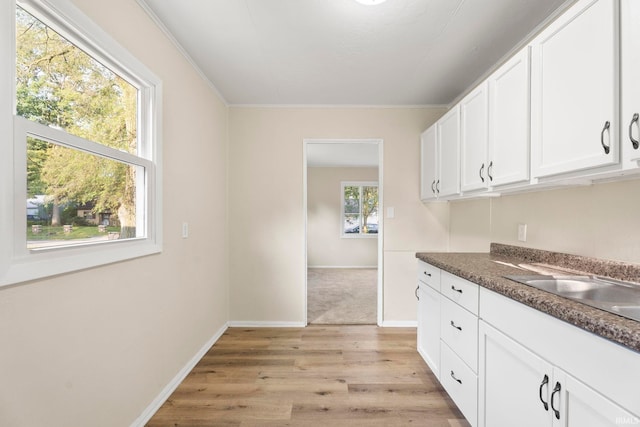
{"label": "whole run of white lower cabinets and drawers under the countertop", "polygon": [[472,426],[640,425],[640,353],[418,264],[418,351]]}

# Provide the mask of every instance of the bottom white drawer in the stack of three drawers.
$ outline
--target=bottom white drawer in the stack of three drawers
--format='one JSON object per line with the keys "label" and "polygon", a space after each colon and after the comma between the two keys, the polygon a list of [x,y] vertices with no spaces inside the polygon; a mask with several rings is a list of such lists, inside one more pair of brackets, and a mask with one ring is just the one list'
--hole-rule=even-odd
{"label": "bottom white drawer in the stack of three drawers", "polygon": [[444,342],[440,346],[440,383],[472,426],[478,418],[478,377]]}

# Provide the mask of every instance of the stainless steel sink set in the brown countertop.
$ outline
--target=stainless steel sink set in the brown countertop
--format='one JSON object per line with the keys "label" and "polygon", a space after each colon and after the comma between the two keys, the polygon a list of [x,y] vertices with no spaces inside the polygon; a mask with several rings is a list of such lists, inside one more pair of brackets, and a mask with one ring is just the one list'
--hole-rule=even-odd
{"label": "stainless steel sink set in the brown countertop", "polygon": [[640,285],[597,276],[505,276],[507,279],[640,321]]}

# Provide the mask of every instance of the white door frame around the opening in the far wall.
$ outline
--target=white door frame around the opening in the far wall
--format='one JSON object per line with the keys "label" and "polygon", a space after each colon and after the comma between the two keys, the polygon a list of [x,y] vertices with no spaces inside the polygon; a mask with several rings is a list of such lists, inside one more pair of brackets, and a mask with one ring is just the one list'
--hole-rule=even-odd
{"label": "white door frame around the opening in the far wall", "polygon": [[322,139],[322,138],[305,138],[302,140],[302,186],[303,186],[303,221],[304,221],[304,325],[307,326],[309,319],[307,318],[307,269],[308,269],[308,223],[307,223],[307,147],[309,144],[375,144],[378,146],[378,283],[377,283],[377,325],[382,326],[384,321],[384,284],[383,284],[383,267],[384,267],[384,180],[383,180],[383,160],[384,160],[384,140],[382,138],[363,138],[363,139]]}

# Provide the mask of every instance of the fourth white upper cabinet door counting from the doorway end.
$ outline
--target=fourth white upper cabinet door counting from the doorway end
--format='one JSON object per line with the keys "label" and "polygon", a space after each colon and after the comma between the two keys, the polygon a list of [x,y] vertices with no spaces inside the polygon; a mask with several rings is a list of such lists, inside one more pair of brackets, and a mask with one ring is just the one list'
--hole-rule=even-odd
{"label": "fourth white upper cabinet door counting from the doorway end", "polygon": [[529,180],[530,48],[489,77],[490,185]]}

